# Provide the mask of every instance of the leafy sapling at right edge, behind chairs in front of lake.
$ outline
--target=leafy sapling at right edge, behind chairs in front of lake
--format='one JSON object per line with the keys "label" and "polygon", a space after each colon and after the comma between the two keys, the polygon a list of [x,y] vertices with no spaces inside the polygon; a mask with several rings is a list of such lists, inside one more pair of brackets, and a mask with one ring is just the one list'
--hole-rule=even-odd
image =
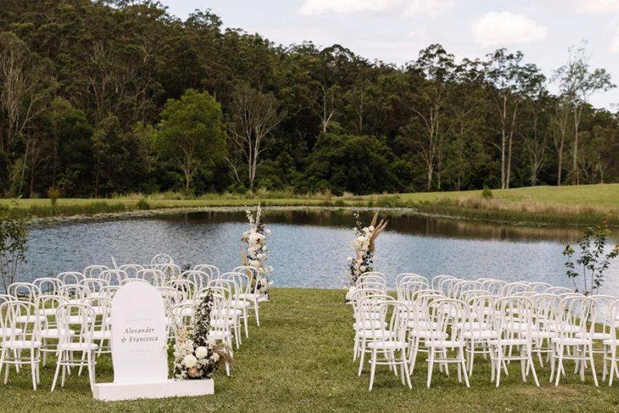
{"label": "leafy sapling at right edge, behind chairs in front of lake", "polygon": [[582,275],[583,290],[581,292],[585,295],[598,293],[604,283],[605,271],[609,268],[611,261],[619,257],[619,244],[613,246],[608,253],[605,251],[609,233],[608,224],[602,222],[600,225],[587,228],[585,235],[578,240],[580,257],[576,260],[576,264],[580,266],[582,273],[576,271],[576,264],[572,258],[576,251],[570,245],[565,246],[563,255],[567,257],[566,275],[574,282],[576,292],[578,292],[576,279]]}

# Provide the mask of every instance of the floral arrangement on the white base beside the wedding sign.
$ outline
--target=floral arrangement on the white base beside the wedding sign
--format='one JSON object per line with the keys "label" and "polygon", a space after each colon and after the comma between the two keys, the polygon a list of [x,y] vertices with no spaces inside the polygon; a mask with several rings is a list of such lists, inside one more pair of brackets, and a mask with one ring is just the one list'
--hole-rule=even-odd
{"label": "floral arrangement on the white base beside the wedding sign", "polygon": [[208,339],[213,295],[207,293],[196,308],[193,328],[188,329],[168,310],[176,331],[174,350],[175,379],[210,379],[213,371],[232,361],[232,350],[226,344]]}

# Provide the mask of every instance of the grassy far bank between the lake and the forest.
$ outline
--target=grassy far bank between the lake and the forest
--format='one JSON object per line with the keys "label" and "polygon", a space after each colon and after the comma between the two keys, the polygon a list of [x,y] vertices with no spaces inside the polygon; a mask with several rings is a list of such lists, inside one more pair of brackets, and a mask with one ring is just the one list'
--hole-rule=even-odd
{"label": "grassy far bank between the lake and the forest", "polygon": [[607,220],[609,224],[619,226],[619,184],[499,189],[492,191],[492,198],[483,198],[481,191],[339,197],[329,193],[294,195],[257,191],[253,195],[204,195],[188,199],[173,193],[136,194],[109,199],[68,198],[58,200],[55,207],[47,199],[5,199],[0,200],[0,207],[17,215],[49,217],[140,209],[240,207],[258,202],[267,206],[290,207],[408,208],[413,212],[512,223],[588,225]]}

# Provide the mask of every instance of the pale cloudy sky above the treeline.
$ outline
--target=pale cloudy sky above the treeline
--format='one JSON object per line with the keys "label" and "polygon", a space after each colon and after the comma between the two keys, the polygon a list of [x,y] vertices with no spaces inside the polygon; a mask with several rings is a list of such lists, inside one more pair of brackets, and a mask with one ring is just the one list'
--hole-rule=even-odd
{"label": "pale cloudy sky above the treeline", "polygon": [[[340,44],[370,61],[402,65],[440,43],[463,57],[499,47],[521,50],[548,76],[572,45],[587,41],[591,67],[619,85],[619,0],[160,0],[181,19],[210,8],[225,28],[259,33],[274,43]],[[549,85],[552,92],[554,85]],[[619,87],[591,98],[619,104]]]}

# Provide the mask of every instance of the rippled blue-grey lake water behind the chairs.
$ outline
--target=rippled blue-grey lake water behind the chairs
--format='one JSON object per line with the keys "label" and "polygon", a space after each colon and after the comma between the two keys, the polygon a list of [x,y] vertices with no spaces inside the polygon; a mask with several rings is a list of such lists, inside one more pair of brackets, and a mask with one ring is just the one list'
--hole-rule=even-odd
{"label": "rippled blue-grey lake water behind the chairs", "polygon": [[[433,277],[495,277],[570,285],[561,252],[583,229],[508,226],[386,211],[387,231],[376,242],[376,271],[393,278],[414,272]],[[362,213],[369,224],[371,213]],[[352,254],[351,211],[268,209],[271,279],[278,287],[340,288]],[[177,264],[240,265],[240,237],[248,224],[243,211],[166,213],[39,223],[30,229],[28,263],[20,279],[80,271],[89,264],[148,263],[169,253]],[[613,234],[609,244],[617,242]],[[619,262],[607,273],[603,292],[619,296]]]}

